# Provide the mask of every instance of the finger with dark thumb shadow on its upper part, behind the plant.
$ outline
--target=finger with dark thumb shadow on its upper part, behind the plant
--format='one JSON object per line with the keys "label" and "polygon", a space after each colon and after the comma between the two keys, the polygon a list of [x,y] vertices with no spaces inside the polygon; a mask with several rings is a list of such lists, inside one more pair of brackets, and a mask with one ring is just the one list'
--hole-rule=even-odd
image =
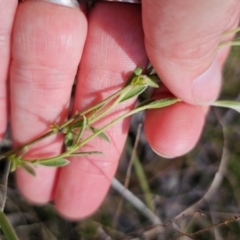
{"label": "finger with dark thumb shadow on its upper part, behind the plant", "polygon": [[[136,66],[146,64],[140,7],[97,3],[89,16],[74,110],[83,110],[116,92]],[[133,102],[126,104],[95,126],[103,126],[129,110]],[[99,207],[115,174],[128,125],[129,120],[125,120],[107,130],[110,144],[96,138],[81,149],[101,151],[104,156],[74,158],[61,169],[55,204],[63,216],[83,218]]]}

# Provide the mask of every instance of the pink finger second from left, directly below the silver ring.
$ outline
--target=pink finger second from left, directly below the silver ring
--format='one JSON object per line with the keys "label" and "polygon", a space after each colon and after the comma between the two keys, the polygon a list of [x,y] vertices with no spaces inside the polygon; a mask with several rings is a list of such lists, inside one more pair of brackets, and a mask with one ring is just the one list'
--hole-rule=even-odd
{"label": "pink finger second from left, directly below the silver ring", "polygon": [[[66,119],[73,80],[87,31],[78,8],[27,1],[19,5],[13,30],[11,111],[15,145],[41,136],[52,123]],[[30,148],[26,158],[61,152],[60,137]],[[34,203],[52,198],[56,168],[37,167],[36,177],[16,173],[23,195]]]}

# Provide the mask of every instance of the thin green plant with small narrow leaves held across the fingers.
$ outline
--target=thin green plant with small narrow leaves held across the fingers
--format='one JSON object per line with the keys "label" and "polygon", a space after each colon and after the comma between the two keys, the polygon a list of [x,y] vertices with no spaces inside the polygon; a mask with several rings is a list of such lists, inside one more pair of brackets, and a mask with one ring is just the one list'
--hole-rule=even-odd
{"label": "thin green plant with small narrow leaves held across the fingers", "polygon": [[[233,34],[238,31],[240,31],[240,28],[236,28],[224,34]],[[220,43],[219,48],[231,45],[240,45],[240,42],[229,41]],[[121,90],[117,91],[113,95],[109,96],[105,100],[90,107],[87,110],[76,112],[70,119],[68,119],[66,122],[63,122],[62,124],[58,125],[56,123],[53,123],[49,127],[48,131],[39,138],[28,142],[23,146],[14,148],[6,153],[0,154],[0,160],[7,159],[10,162],[10,169],[12,172],[15,171],[18,167],[22,167],[30,174],[35,175],[34,168],[37,165],[44,165],[48,167],[63,167],[70,163],[67,160],[68,157],[102,154],[99,151],[82,152],[81,148],[95,137],[100,137],[105,141],[110,142],[108,136],[105,133],[105,130],[126,117],[129,117],[146,109],[163,108],[181,101],[180,99],[174,97],[159,100],[148,99],[138,104],[133,110],[124,113],[123,115],[102,126],[100,129],[93,127],[93,124],[96,121],[104,118],[117,105],[128,101],[129,99],[136,98],[148,87],[158,88],[159,84],[161,84],[160,79],[153,71],[152,67],[146,70],[140,67],[136,68]],[[216,101],[212,103],[211,106],[231,108],[240,113],[240,102],[236,101]],[[85,136],[83,134],[85,131],[89,131],[91,134],[88,134],[86,138],[83,138],[83,136]],[[56,134],[64,135],[65,151],[63,153],[49,158],[37,158],[30,160],[24,158],[25,153],[28,152],[28,149],[31,145]],[[6,239],[18,239],[2,210],[0,210],[0,226],[4,232]]]}

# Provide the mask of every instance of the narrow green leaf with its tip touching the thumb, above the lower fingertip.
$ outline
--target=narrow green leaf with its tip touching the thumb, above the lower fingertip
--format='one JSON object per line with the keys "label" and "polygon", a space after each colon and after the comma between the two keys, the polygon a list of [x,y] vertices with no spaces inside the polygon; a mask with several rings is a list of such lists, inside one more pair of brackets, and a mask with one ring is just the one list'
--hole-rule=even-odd
{"label": "narrow green leaf with its tip touching the thumb, above the lower fingertip", "polygon": [[179,101],[180,100],[178,98],[164,98],[159,100],[150,99],[141,103],[137,108],[143,108],[143,109],[162,108],[162,107],[170,106]]}

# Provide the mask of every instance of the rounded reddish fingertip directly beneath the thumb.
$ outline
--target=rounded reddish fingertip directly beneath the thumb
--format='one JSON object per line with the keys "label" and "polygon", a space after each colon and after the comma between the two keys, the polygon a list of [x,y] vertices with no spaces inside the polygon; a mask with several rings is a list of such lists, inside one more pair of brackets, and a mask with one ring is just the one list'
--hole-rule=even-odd
{"label": "rounded reddish fingertip directly beneath the thumb", "polygon": [[[173,97],[162,86],[155,98]],[[183,155],[196,145],[208,107],[179,102],[167,108],[150,110],[145,117],[145,134],[152,149],[165,158]]]}

